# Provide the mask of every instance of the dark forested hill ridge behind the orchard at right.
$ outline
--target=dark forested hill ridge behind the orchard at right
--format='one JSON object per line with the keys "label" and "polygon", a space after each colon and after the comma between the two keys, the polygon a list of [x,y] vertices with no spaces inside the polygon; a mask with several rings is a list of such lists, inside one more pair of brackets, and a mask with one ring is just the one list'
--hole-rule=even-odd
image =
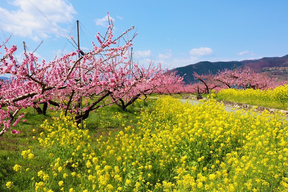
{"label": "dark forested hill ridge behind the orchard at right", "polygon": [[268,73],[271,76],[276,76],[280,80],[287,80],[288,78],[288,55],[283,57],[263,57],[261,59],[243,60],[243,61],[227,61],[227,62],[210,62],[201,61],[195,64],[190,64],[184,67],[177,67],[173,71],[178,71],[177,74],[184,76],[184,82],[194,82],[193,72],[198,74],[213,73],[216,74],[218,70],[227,69],[242,70],[244,67],[250,67],[258,73]]}

